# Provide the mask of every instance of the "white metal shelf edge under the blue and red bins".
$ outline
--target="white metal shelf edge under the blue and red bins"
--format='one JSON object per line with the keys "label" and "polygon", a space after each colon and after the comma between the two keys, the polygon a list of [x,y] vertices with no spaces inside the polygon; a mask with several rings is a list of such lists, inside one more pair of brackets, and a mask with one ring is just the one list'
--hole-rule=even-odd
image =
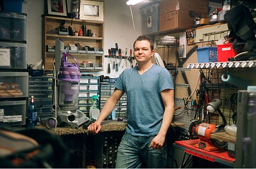
{"label": "white metal shelf edge under the blue and red bins", "polygon": [[189,64],[187,64],[187,69],[252,68],[252,67],[256,67],[256,61],[208,62],[208,63],[189,63]]}

